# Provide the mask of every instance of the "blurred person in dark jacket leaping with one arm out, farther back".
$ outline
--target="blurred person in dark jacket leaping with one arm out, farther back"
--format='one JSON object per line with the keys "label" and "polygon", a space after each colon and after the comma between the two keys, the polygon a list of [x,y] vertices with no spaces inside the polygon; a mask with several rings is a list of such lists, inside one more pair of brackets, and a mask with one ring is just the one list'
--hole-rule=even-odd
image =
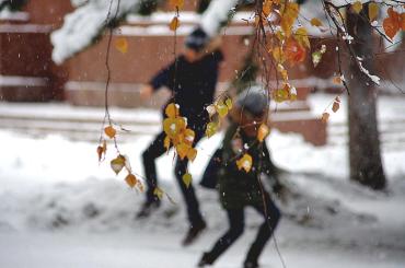
{"label": "blurred person in dark jacket leaping with one arm out, farther back", "polygon": [[[187,118],[187,127],[195,131],[194,145],[204,137],[209,115],[206,107],[213,102],[216,84],[218,81],[219,65],[223,60],[219,42],[210,40],[201,30],[196,28],[185,39],[184,53],[167,67],[155,74],[141,90],[141,98],[149,100],[162,86],[172,92],[167,101],[180,105],[180,114]],[[165,117],[163,106],[163,118]],[[158,187],[155,159],[166,150],[163,144],[164,131],[160,132],[149,148],[143,152],[143,167],[147,178],[147,199],[137,218],[147,218],[160,207],[160,200],[153,191]],[[193,185],[186,187],[183,175],[186,173],[188,160],[177,158],[175,176],[182,190],[189,221],[189,230],[183,240],[183,245],[189,245],[206,229],[206,222],[200,213],[198,200]]]}

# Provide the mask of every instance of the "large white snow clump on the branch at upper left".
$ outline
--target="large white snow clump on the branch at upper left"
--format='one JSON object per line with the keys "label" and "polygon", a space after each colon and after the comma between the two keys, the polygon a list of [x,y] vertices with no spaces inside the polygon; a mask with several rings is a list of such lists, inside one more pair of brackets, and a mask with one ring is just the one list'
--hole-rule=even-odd
{"label": "large white snow clump on the branch at upper left", "polygon": [[[54,45],[53,60],[61,63],[74,54],[90,46],[116,14],[120,19],[137,10],[141,0],[89,0],[73,1],[80,4],[65,16],[61,28],[55,31],[50,40]],[[118,4],[119,2],[119,4]]]}

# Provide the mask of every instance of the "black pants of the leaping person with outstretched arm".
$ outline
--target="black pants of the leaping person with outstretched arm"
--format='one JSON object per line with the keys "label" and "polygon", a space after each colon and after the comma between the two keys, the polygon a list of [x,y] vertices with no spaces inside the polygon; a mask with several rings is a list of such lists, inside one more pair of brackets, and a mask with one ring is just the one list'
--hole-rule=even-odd
{"label": "black pants of the leaping person with outstretched arm", "polygon": [[[204,126],[204,124],[201,124],[201,126]],[[202,129],[202,127],[199,127],[199,129]],[[195,133],[196,137],[194,140],[194,145],[202,138],[204,132],[201,130],[199,131],[195,130]],[[159,156],[166,152],[166,149],[163,145],[164,137],[165,137],[164,132],[159,133],[154,141],[152,142],[152,144],[150,144],[150,147],[142,154],[144,175],[148,184],[147,201],[157,200],[157,197],[153,195],[154,188],[158,186],[157,167],[154,162],[155,159],[158,159]],[[188,221],[193,226],[194,224],[198,224],[202,221],[202,215],[199,212],[199,205],[193,185],[190,184],[187,188],[187,186],[183,183],[183,175],[187,171],[187,164],[188,164],[187,159],[181,160],[180,158],[177,158],[174,167],[174,173],[178,186],[182,190],[184,201],[186,202]]]}

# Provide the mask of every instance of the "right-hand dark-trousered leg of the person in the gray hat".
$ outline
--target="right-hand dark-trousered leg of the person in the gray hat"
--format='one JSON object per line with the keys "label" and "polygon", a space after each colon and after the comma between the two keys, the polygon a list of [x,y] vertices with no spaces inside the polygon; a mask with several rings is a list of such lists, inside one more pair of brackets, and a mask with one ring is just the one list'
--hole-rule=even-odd
{"label": "right-hand dark-trousered leg of the person in the gray hat", "polygon": [[251,245],[245,259],[245,267],[257,267],[258,256],[262,254],[267,241],[271,237],[281,213],[269,196],[266,195],[266,207],[263,205],[254,207],[264,218],[265,221],[261,225],[256,240]]}

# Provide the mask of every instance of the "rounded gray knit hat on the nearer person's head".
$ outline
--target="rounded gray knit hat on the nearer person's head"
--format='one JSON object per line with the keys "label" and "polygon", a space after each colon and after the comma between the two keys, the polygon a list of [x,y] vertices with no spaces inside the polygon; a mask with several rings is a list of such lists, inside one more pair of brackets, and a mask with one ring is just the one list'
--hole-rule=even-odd
{"label": "rounded gray knit hat on the nearer person's head", "polygon": [[255,117],[262,116],[267,105],[267,94],[259,86],[246,89],[236,96],[236,106]]}

